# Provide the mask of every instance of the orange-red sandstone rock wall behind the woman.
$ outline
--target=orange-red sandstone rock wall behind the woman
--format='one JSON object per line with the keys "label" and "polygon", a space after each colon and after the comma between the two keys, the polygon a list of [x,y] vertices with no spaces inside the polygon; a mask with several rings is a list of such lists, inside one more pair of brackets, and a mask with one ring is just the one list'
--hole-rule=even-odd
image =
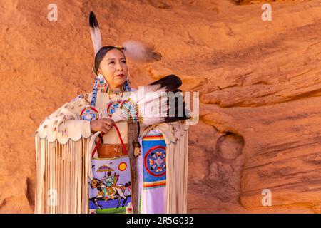
{"label": "orange-red sandstone rock wall behind the woman", "polygon": [[134,87],[176,73],[200,92],[188,212],[321,212],[320,1],[276,1],[272,21],[251,2],[60,0],[48,21],[44,1],[1,1],[0,212],[33,212],[34,132],[92,89],[90,11],[104,44],[132,38],[162,53],[128,61]]}

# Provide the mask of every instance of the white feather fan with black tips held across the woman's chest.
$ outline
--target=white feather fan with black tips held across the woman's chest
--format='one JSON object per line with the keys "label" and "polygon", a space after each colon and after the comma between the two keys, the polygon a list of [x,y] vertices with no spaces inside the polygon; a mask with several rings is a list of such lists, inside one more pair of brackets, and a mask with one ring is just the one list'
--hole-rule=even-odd
{"label": "white feather fan with black tips held across the woman's chest", "polygon": [[131,121],[143,125],[168,123],[190,118],[178,87],[182,81],[169,75],[132,92],[112,115],[115,122]]}

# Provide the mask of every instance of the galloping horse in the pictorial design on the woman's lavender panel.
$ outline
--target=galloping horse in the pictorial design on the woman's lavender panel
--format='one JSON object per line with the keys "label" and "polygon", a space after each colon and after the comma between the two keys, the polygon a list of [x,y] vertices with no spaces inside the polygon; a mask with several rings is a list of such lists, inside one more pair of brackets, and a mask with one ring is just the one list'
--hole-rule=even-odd
{"label": "galloping horse in the pictorial design on the woman's lavender panel", "polygon": [[[126,188],[130,186],[131,186],[130,181],[128,181],[125,185],[121,184],[121,185],[112,186],[113,190],[115,191],[113,195],[115,195],[115,197],[117,197],[118,199],[118,205],[116,208],[118,208],[121,205],[122,198],[124,199],[122,207],[125,206],[125,203],[127,201],[127,196],[124,195],[124,192]],[[89,200],[91,200],[93,204],[95,204],[96,207],[98,207],[99,209],[103,209],[103,207],[101,207],[101,205],[98,204],[97,201],[106,200],[106,197],[107,198],[111,197],[110,195],[107,194],[107,190],[106,190],[107,186],[101,180],[98,180],[97,178],[93,178],[93,180],[91,180],[91,189],[94,189],[94,188],[97,189],[98,194],[96,195],[96,197],[92,197]]]}

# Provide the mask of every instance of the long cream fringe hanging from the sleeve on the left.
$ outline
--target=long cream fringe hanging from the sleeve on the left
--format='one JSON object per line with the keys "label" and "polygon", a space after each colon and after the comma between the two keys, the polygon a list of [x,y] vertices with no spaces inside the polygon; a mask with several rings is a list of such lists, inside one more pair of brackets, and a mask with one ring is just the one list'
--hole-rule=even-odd
{"label": "long cream fringe hanging from the sleeve on the left", "polygon": [[88,213],[90,140],[62,145],[36,135],[36,214]]}

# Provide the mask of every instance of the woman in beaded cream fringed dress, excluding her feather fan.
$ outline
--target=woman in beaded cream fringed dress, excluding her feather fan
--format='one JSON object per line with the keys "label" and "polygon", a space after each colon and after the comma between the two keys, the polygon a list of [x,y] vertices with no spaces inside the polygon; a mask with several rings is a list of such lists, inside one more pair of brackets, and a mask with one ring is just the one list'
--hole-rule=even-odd
{"label": "woman in beaded cream fringed dress, excluding her feather fan", "polygon": [[[92,28],[97,36],[93,14]],[[101,46],[93,33],[93,91],[62,105],[36,130],[35,212],[186,213],[188,125],[115,123],[113,113],[134,91],[126,48]]]}

